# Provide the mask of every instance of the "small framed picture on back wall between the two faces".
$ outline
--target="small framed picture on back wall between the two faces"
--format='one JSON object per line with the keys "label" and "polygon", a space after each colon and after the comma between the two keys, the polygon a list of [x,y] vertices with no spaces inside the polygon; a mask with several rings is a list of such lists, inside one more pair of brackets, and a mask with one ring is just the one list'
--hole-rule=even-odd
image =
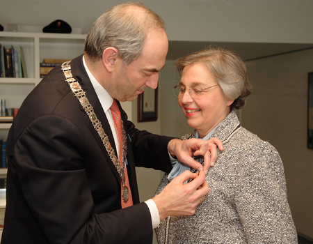
{"label": "small framed picture on back wall between the two faces", "polygon": [[147,87],[138,96],[138,122],[157,121],[158,119],[158,88]]}

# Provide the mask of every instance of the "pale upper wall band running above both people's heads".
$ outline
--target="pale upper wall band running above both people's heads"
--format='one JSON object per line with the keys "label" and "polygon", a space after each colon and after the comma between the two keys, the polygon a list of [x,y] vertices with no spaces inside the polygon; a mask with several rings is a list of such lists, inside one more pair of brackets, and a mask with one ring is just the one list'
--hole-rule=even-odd
{"label": "pale upper wall band running above both people's heads", "polygon": [[[170,40],[313,43],[311,0],[142,0],[163,17]],[[88,33],[117,0],[0,0],[0,24],[65,20]]]}

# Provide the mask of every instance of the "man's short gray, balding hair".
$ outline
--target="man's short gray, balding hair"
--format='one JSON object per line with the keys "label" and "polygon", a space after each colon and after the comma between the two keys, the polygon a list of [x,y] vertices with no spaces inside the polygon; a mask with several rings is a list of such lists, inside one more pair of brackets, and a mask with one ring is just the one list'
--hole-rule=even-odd
{"label": "man's short gray, balding hair", "polygon": [[102,59],[104,49],[115,47],[128,65],[140,56],[147,32],[165,29],[164,22],[140,2],[122,3],[101,15],[91,27],[85,43],[90,61]]}

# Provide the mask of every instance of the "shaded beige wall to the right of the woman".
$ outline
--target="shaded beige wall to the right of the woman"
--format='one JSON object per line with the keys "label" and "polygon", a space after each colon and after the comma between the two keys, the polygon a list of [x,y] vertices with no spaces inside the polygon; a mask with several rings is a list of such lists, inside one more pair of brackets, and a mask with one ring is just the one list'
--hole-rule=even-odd
{"label": "shaded beige wall to the right of the woman", "polygon": [[253,90],[242,111],[242,125],[280,153],[296,229],[313,239],[313,150],[307,148],[313,49],[249,61],[247,66]]}

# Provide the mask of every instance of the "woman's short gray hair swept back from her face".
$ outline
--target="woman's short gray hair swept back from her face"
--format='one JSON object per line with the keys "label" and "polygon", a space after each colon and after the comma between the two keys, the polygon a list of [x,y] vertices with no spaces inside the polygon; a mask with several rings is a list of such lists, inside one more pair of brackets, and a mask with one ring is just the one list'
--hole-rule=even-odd
{"label": "woman's short gray hair swept back from her face", "polygon": [[179,75],[182,75],[185,66],[197,62],[204,63],[209,68],[225,98],[229,101],[234,100],[230,106],[231,111],[246,105],[252,86],[248,79],[246,65],[239,55],[222,47],[211,47],[177,59],[175,67]]}

